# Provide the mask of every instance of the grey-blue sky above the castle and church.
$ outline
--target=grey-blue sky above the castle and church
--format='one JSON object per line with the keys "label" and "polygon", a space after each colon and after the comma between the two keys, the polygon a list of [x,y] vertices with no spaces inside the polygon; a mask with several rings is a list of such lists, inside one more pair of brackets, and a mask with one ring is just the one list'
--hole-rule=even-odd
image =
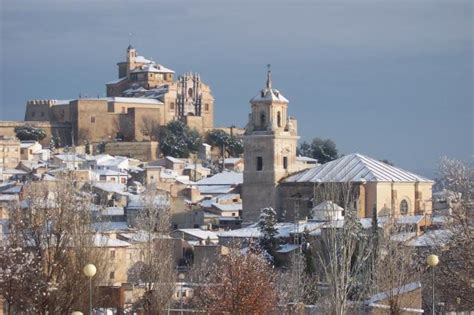
{"label": "grey-blue sky above the castle and church", "polygon": [[132,44],[199,72],[216,126],[245,126],[271,64],[301,141],[430,175],[441,156],[472,162],[472,1],[0,3],[1,120],[23,119],[28,99],[105,96]]}

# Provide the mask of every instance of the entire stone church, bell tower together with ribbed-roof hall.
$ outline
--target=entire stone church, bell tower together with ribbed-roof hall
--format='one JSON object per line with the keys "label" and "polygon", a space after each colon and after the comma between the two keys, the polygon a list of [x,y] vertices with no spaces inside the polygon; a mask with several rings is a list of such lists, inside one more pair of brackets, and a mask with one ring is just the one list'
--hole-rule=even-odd
{"label": "entire stone church, bell tower together with ribbed-roof hall", "polygon": [[[311,217],[328,186],[350,187],[351,209],[359,217],[431,214],[433,181],[361,154],[349,154],[323,165],[296,157],[297,124],[288,116],[288,100],[266,87],[250,101],[252,112],[244,139],[244,223],[258,220],[260,210],[273,207],[280,220]],[[338,198],[334,198],[338,199]],[[342,211],[344,212],[344,211]]]}

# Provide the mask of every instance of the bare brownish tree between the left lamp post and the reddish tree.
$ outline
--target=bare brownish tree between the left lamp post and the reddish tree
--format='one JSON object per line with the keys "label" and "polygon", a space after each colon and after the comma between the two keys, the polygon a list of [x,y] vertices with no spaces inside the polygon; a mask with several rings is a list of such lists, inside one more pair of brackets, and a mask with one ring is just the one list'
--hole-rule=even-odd
{"label": "bare brownish tree between the left lamp post and the reddish tree", "polygon": [[129,270],[129,281],[143,287],[136,303],[145,314],[164,314],[175,290],[173,239],[170,238],[168,196],[147,187],[136,217],[139,259]]}

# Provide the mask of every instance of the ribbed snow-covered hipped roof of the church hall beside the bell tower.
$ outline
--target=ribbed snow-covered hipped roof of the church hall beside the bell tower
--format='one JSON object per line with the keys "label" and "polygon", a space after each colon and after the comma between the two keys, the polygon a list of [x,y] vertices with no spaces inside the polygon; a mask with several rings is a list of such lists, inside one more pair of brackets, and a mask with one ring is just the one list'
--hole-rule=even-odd
{"label": "ribbed snow-covered hipped roof of the church hall beside the bell tower", "polygon": [[432,182],[378,160],[353,153],[291,175],[284,182]]}

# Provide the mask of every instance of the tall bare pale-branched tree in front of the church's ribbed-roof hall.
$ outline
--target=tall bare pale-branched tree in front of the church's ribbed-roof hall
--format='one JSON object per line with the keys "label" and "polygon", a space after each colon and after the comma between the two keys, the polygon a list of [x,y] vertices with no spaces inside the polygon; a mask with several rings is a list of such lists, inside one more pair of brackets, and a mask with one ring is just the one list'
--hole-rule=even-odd
{"label": "tall bare pale-branched tree in front of the church's ribbed-roof hall", "polygon": [[344,220],[335,220],[328,209],[317,250],[319,274],[326,287],[322,300],[331,314],[346,314],[350,300],[365,298],[371,278],[372,245],[357,218],[356,196],[356,189],[347,182],[324,183],[315,189],[317,202],[332,201],[345,211]]}

